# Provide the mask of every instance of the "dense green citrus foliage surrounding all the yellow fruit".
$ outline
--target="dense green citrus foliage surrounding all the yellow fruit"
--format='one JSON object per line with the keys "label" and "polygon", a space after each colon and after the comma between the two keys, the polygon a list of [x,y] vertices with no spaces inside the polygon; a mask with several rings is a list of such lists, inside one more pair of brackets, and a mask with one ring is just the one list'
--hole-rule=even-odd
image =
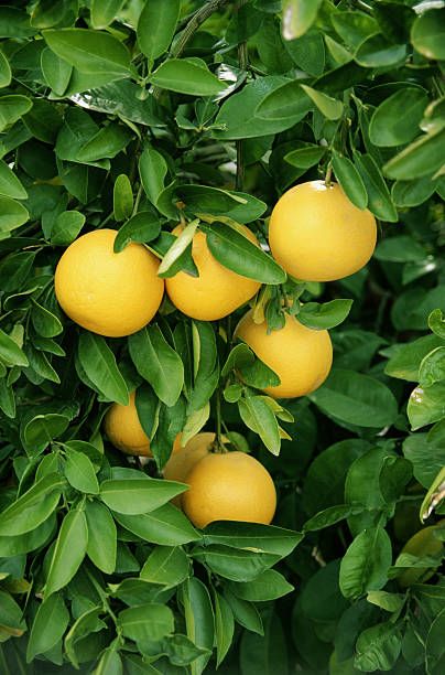
{"label": "dense green citrus foliage surrounding all the yellow fruit", "polygon": [[[444,2],[18,1],[0,38],[0,672],[443,672]],[[286,280],[271,208],[326,175],[379,219],[376,254]],[[164,278],[206,232],[271,329],[284,297],[333,329],[326,383],[263,396],[243,310],[79,329],[54,269],[105,225]],[[148,464],[101,432],[135,387]],[[169,503],[160,471],[202,428],[271,472],[273,525],[200,532]],[[438,526],[401,553],[420,516]]]}

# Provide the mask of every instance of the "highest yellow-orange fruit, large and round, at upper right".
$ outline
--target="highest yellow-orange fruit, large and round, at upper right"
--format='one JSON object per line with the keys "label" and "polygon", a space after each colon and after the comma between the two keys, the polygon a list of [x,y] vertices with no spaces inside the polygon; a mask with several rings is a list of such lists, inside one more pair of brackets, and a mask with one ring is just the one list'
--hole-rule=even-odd
{"label": "highest yellow-orange fruit, large and round, at upper right", "polygon": [[276,262],[302,281],[335,281],[361,269],[377,242],[376,218],[336,183],[311,181],[287,190],[269,222]]}

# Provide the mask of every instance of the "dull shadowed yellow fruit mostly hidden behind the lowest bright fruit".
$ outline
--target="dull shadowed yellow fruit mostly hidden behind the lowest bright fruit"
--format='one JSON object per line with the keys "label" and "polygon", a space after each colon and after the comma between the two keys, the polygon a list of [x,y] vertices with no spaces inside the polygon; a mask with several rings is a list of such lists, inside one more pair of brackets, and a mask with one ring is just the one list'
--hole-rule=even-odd
{"label": "dull shadowed yellow fruit mostly hidden behind the lowest bright fruit", "polygon": [[[173,452],[164,467],[164,479],[167,481],[187,482],[188,472],[193,467],[210,452],[210,446],[215,440],[211,431],[197,433],[184,446],[181,447],[181,435],[173,444]],[[177,506],[182,504],[182,494],[172,500]]]}

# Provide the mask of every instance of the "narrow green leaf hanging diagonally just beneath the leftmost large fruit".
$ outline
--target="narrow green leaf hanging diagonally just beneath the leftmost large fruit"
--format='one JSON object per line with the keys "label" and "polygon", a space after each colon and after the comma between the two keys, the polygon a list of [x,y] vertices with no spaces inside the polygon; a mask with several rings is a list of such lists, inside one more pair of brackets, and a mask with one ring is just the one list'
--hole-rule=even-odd
{"label": "narrow green leaf hanging diagonally just beneath the leftmost large fruit", "polygon": [[104,338],[94,333],[80,333],[78,357],[88,378],[104,396],[122,406],[128,405],[130,399],[126,381]]}

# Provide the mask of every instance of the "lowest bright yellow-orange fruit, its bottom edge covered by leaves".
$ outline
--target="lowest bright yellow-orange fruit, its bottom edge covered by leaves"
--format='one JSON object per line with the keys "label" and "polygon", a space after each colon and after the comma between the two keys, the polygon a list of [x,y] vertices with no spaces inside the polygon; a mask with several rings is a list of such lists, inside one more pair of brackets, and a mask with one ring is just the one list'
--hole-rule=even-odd
{"label": "lowest bright yellow-orange fruit, its bottom edge covered by leaves", "polygon": [[214,521],[269,525],[276,492],[269,472],[245,452],[209,453],[188,473],[183,508],[196,527]]}

